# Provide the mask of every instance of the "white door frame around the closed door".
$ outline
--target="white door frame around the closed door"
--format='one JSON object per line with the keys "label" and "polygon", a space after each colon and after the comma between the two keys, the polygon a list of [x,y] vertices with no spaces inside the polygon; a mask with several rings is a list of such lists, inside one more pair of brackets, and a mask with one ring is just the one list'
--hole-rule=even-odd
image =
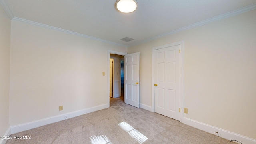
{"label": "white door frame around the closed door", "polygon": [[184,41],[173,42],[152,48],[152,112],[155,112],[154,52],[157,49],[180,45],[180,122],[184,122]]}

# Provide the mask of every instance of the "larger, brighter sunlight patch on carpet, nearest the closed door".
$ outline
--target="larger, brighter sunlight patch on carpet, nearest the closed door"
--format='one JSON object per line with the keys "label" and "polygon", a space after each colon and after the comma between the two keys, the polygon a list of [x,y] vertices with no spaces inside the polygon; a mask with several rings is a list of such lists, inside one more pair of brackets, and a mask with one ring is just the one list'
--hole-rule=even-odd
{"label": "larger, brighter sunlight patch on carpet, nearest the closed door", "polygon": [[146,136],[144,136],[142,133],[140,133],[126,122],[120,122],[118,125],[140,144],[148,139]]}

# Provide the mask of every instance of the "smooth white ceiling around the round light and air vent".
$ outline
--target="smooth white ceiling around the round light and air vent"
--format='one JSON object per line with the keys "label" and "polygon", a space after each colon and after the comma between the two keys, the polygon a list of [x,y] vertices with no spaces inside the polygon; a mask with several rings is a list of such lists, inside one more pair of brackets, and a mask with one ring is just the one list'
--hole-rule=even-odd
{"label": "smooth white ceiling around the round light and air vent", "polygon": [[[125,46],[171,34],[204,20],[215,20],[228,12],[234,14],[232,11],[244,7],[256,8],[256,0],[137,0],[137,10],[125,14],[116,10],[116,0],[1,1],[14,18]],[[120,40],[126,36],[135,40]]]}

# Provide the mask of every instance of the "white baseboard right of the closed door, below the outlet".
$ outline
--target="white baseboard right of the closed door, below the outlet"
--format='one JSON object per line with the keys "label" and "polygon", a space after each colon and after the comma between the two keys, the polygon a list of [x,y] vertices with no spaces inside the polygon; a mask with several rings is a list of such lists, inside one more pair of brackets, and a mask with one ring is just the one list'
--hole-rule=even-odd
{"label": "white baseboard right of the closed door, below the outlet", "polygon": [[[237,140],[243,144],[256,144],[256,140],[252,138],[248,138],[246,136],[242,136],[240,134],[236,134],[234,132],[230,132],[227,130],[223,130],[221,128],[217,128],[208,124],[204,124],[202,122],[198,122],[196,120],[192,120],[190,118],[185,118],[183,120],[184,124],[187,124],[189,126],[192,126],[194,128],[198,128],[199,130],[203,130],[205,132],[220,136],[222,138],[225,138],[227,140]],[[216,133],[218,132],[218,133]]]}

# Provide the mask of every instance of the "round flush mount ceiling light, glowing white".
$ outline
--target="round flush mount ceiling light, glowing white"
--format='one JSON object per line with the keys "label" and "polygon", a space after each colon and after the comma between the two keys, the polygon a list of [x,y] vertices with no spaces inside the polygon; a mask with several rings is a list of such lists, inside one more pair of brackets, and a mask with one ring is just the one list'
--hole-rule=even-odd
{"label": "round flush mount ceiling light, glowing white", "polygon": [[137,2],[136,0],[117,0],[116,8],[124,13],[133,12],[137,8]]}

